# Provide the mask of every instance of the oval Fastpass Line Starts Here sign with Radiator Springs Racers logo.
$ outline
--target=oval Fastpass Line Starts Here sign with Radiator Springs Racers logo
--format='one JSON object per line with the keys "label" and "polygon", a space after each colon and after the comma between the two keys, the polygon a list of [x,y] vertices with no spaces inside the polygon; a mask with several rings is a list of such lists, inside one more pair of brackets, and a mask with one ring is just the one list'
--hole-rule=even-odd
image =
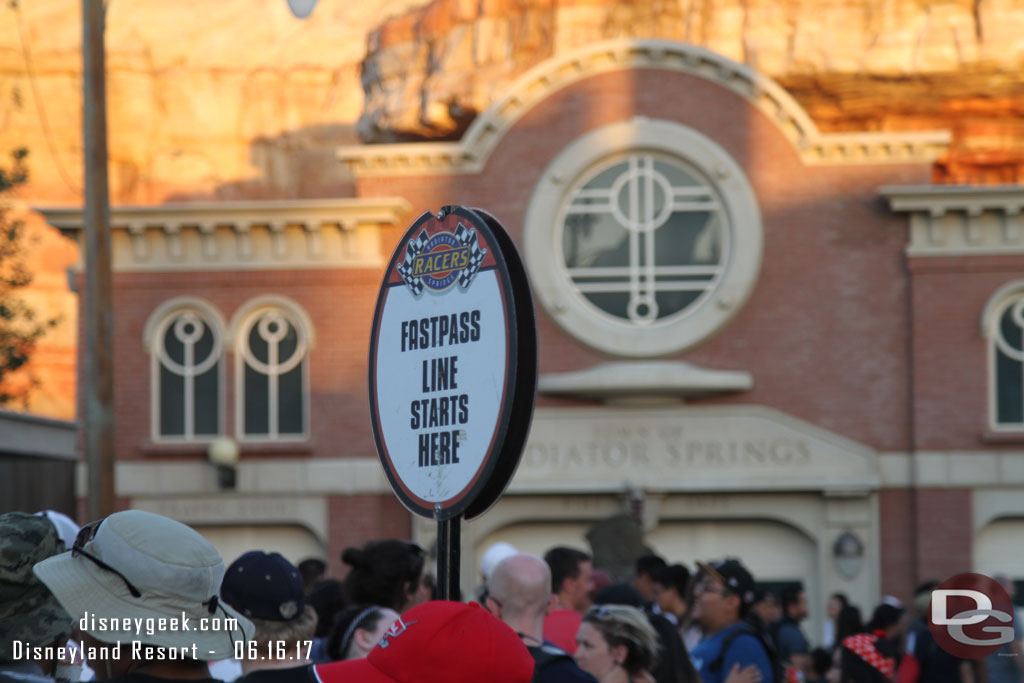
{"label": "oval Fastpass Line Starts Here sign with Radiator Springs Racers logo", "polygon": [[497,219],[444,207],[413,223],[381,284],[369,366],[377,454],[402,504],[438,520],[489,508],[537,389],[529,285]]}

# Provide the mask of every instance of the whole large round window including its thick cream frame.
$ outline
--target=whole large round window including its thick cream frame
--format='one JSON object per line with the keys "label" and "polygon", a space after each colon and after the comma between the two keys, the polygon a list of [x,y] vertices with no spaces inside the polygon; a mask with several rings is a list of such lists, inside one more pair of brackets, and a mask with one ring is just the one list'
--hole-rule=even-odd
{"label": "whole large round window including its thick cream frame", "polygon": [[725,325],[761,263],[761,219],[739,167],[678,124],[636,119],[563,151],[523,229],[535,291],[571,335],[649,356]]}

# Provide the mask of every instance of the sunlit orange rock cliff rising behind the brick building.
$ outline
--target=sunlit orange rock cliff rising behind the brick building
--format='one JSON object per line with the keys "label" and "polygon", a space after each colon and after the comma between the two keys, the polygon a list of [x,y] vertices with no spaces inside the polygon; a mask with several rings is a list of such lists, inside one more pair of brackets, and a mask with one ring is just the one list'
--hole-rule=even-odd
{"label": "sunlit orange rock cliff rising behind the brick building", "polygon": [[[32,150],[27,196],[50,202],[78,202],[82,185],[79,12],[77,0],[0,8],[0,147]],[[623,37],[744,62],[824,130],[950,128],[938,179],[1024,177],[1024,0],[319,0],[306,19],[285,0],[111,0],[108,12],[120,204],[345,195],[336,145],[458,137],[530,67]]]}

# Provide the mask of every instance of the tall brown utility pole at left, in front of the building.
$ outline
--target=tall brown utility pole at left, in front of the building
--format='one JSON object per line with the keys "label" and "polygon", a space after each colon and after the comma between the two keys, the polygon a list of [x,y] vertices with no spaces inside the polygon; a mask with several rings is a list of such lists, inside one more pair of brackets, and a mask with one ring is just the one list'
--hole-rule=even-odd
{"label": "tall brown utility pole at left, in front of the building", "polygon": [[114,306],[106,181],[106,59],[102,0],[82,0],[85,142],[85,463],[89,519],[114,512]]}

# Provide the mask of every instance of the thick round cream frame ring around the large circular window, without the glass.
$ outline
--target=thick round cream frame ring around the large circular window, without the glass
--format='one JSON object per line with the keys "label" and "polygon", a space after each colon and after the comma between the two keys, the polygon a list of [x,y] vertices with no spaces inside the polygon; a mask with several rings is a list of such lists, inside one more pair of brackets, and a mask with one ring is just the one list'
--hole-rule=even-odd
{"label": "thick round cream frame ring around the large circular window, without the glass", "polygon": [[[572,284],[562,258],[561,221],[579,178],[613,158],[645,153],[678,159],[711,184],[721,199],[724,251],[718,282],[693,304],[638,325],[600,311]],[[691,128],[642,117],[597,128],[566,146],[535,186],[523,223],[524,260],[545,310],[580,342],[626,357],[676,353],[718,332],[753,291],[762,251],[756,196],[729,154]]]}

